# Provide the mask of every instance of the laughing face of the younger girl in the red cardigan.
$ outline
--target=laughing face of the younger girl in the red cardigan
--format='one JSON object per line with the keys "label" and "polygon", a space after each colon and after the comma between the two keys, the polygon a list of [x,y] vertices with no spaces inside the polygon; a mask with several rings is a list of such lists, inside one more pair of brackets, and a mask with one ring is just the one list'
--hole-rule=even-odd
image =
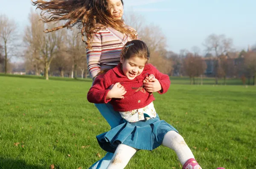
{"label": "laughing face of the younger girl in the red cardigan", "polygon": [[120,58],[120,62],[122,63],[122,71],[125,76],[133,80],[137,76],[143,72],[145,64],[147,63],[147,59],[133,57],[131,56],[129,59],[124,59],[123,57]]}

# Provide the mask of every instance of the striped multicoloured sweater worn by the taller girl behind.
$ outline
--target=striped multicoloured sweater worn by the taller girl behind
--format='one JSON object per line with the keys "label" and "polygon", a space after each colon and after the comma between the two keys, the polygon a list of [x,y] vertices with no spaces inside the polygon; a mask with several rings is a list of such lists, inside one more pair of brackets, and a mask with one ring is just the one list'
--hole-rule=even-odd
{"label": "striped multicoloured sweater worn by the taller girl behind", "polygon": [[123,45],[131,41],[130,37],[108,27],[97,31],[87,49],[87,68],[94,80],[100,70],[111,69],[120,62]]}

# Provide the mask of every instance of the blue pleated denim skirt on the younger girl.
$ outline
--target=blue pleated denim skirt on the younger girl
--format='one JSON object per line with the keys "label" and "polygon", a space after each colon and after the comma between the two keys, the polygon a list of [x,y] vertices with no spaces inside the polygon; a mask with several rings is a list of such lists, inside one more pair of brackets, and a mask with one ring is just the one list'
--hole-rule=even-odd
{"label": "blue pleated denim skirt on the younger girl", "polygon": [[159,118],[124,123],[108,132],[97,135],[102,149],[114,153],[119,144],[125,144],[135,149],[153,150],[163,142],[164,135],[169,131],[178,132],[172,125]]}

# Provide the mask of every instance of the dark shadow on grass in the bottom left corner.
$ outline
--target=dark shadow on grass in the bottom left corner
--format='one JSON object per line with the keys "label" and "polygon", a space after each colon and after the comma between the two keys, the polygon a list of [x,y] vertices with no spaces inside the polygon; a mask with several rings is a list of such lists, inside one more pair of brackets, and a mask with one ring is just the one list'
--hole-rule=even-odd
{"label": "dark shadow on grass in the bottom left corner", "polygon": [[31,165],[24,160],[0,157],[0,169],[49,169],[49,166]]}

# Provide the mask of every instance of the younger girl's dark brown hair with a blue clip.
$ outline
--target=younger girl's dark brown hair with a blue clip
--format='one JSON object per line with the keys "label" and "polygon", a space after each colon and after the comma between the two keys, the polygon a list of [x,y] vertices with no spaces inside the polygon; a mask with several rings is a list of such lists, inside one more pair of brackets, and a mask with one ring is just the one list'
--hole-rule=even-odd
{"label": "younger girl's dark brown hair with a blue clip", "polygon": [[123,46],[120,56],[124,59],[139,57],[148,60],[150,57],[150,52],[145,42],[141,40],[132,40]]}

